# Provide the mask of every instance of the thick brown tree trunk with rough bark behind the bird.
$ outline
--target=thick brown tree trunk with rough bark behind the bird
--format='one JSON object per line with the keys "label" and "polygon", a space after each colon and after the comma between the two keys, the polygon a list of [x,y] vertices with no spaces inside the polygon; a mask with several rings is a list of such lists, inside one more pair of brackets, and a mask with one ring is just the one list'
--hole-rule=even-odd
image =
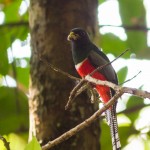
{"label": "thick brown tree trunk with rough bark behind the bird", "polygon": [[[56,67],[75,74],[67,35],[74,27],[83,27],[95,36],[96,0],[31,0],[31,82],[30,139],[35,135],[43,145],[92,115],[98,106],[90,103],[86,94],[73,103],[70,111],[64,107],[74,82],[48,69],[38,56]],[[99,150],[99,122],[53,149]]]}

